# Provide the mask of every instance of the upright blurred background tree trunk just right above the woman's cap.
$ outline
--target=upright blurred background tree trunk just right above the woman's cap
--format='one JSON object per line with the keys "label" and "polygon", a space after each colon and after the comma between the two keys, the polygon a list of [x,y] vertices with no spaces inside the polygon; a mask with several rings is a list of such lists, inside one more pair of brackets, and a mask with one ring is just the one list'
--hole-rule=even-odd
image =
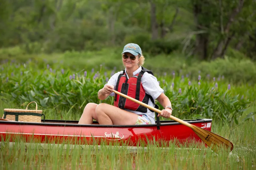
{"label": "upright blurred background tree trunk just right above the woman's cap", "polygon": [[156,22],[156,4],[150,1],[151,6],[151,33],[152,33],[152,40],[156,40],[158,38],[158,30],[157,30],[157,22]]}

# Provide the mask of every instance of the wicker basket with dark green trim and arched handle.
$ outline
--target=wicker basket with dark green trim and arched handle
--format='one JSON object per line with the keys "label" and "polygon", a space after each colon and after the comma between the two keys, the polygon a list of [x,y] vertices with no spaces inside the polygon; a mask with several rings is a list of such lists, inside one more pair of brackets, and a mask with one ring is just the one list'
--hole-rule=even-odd
{"label": "wicker basket with dark green trim and arched handle", "polygon": [[[35,101],[32,102],[36,103]],[[44,115],[42,112],[42,110],[37,110],[36,103],[36,110],[28,110],[28,106],[26,109],[4,109],[3,118],[19,122],[41,122],[41,116]]]}

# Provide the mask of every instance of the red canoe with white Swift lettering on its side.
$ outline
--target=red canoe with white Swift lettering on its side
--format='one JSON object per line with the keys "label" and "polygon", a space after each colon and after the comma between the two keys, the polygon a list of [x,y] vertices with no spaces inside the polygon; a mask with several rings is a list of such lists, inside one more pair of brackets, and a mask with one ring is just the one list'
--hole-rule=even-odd
{"label": "red canoe with white Swift lettering on its side", "polygon": [[[211,131],[212,119],[184,120]],[[45,122],[0,121],[0,140],[15,142],[19,137],[24,142],[55,144],[109,144],[142,146],[155,141],[176,140],[179,143],[202,142],[195,132],[172,120],[152,125],[78,125],[78,121],[45,120]],[[160,129],[159,129],[160,128]]]}

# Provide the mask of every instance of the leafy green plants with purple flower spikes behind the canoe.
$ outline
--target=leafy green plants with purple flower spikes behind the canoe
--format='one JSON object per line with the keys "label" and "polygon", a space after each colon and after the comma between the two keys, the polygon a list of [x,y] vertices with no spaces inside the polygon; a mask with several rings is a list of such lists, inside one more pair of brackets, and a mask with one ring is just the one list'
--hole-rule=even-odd
{"label": "leafy green plants with purple flower spikes behind the canoe", "polygon": [[[100,101],[97,93],[106,83],[106,78],[110,78],[118,70],[112,70],[110,74],[111,70],[106,70],[105,65],[100,65],[97,70],[74,72],[60,63],[43,63],[42,69],[39,69],[37,60],[29,60],[22,65],[13,62],[1,65],[2,100],[11,99],[21,106],[36,101],[43,110],[72,110],[80,114],[81,109],[89,102],[113,104],[113,97]],[[213,118],[237,123],[244,109],[255,100],[254,87],[248,85],[244,85],[242,89],[231,85],[231,89],[227,90],[228,84],[223,80],[218,80],[219,85],[215,87],[215,82],[207,81],[205,77],[202,77],[200,85],[197,81],[188,85],[190,78],[180,76],[166,74],[156,77],[171,100],[174,115],[177,117]]]}

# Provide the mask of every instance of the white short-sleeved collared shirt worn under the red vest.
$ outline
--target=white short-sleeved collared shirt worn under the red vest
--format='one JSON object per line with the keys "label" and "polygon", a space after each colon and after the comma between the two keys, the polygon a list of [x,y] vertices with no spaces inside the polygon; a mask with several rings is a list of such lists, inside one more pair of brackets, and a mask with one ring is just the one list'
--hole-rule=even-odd
{"label": "white short-sleeved collared shirt worn under the red vest", "polygon": [[[141,67],[139,67],[136,71],[133,72],[133,76],[138,74],[140,71],[141,71]],[[119,71],[117,72],[116,74],[114,74],[109,80],[108,80],[108,85],[114,85],[114,90],[116,90],[116,83],[117,83],[117,78],[119,76],[119,74],[122,74],[123,71]],[[126,73],[126,76],[127,78],[129,79],[128,77],[128,74],[126,72],[126,69],[125,69],[125,73]],[[160,96],[160,94],[164,93],[164,90],[159,86],[159,83],[156,79],[155,76],[149,74],[148,72],[145,72],[141,78],[141,83],[142,83],[142,86],[145,90],[145,92],[147,94],[149,94],[150,96],[152,96],[153,100],[156,100],[156,98],[158,98]],[[107,85],[106,84],[106,85]],[[105,85],[104,85],[105,86]],[[116,93],[112,92],[110,94],[110,96],[115,96]],[[148,101],[148,105],[149,106],[152,106],[154,107],[155,105],[151,102],[151,100],[149,99]],[[152,122],[152,124],[155,123],[155,112],[151,112],[149,109],[147,110],[147,113],[141,113],[141,112],[138,112],[138,111],[134,111],[134,110],[130,110],[130,109],[124,109],[126,111],[129,111],[129,112],[133,112],[133,113],[136,113],[137,115],[142,115],[142,114],[145,114],[148,116],[148,118],[150,119],[150,121]]]}

